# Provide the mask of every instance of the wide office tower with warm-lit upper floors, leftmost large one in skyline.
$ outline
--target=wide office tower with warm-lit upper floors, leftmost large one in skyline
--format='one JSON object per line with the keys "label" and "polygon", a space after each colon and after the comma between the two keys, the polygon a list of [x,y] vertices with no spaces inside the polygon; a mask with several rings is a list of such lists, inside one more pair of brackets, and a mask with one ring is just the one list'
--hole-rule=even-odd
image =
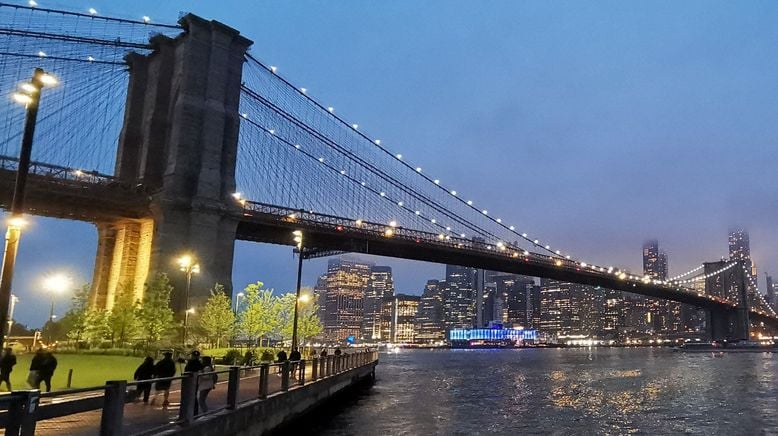
{"label": "wide office tower with warm-lit upper floors, leftmost large one in skyline", "polygon": [[332,259],[325,274],[324,334],[343,341],[359,338],[364,316],[365,289],[373,264],[346,258]]}

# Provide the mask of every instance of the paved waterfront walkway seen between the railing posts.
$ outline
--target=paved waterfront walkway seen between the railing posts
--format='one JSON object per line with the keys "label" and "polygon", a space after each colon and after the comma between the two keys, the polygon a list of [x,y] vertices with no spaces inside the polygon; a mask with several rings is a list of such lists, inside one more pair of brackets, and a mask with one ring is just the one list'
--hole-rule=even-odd
{"label": "paved waterfront walkway seen between the railing posts", "polygon": [[[281,377],[275,373],[276,367],[270,368],[270,379],[268,381],[268,394],[281,391]],[[227,373],[219,374],[219,382],[216,388],[208,395],[208,406],[210,411],[223,409],[227,406]],[[305,369],[305,378],[311,377],[311,364],[308,363]],[[293,387],[296,380],[290,380],[290,386]],[[131,387],[130,390],[133,388]],[[155,391],[152,389],[152,398]],[[152,404],[143,404],[143,402],[127,403],[124,406],[124,434],[136,434],[147,432],[162,425],[172,423],[178,419],[179,405],[181,402],[180,382],[175,381],[170,390],[170,404],[167,408],[162,407],[162,395]],[[92,395],[102,395],[92,394]],[[247,370],[241,372],[240,388],[238,391],[238,402],[244,402],[255,399],[259,396],[259,369]],[[72,398],[72,397],[71,397]],[[84,398],[84,395],[78,397]],[[55,402],[64,399],[55,399]],[[43,401],[47,403],[48,401]],[[100,430],[100,419],[102,410],[77,413],[69,416],[53,418],[38,421],[36,434],[67,434],[67,435],[97,435]]]}

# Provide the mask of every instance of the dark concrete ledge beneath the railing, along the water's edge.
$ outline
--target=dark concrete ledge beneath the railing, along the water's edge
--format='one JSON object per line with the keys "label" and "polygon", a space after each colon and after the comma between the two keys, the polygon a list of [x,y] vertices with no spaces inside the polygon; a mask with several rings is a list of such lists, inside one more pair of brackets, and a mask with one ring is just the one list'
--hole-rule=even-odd
{"label": "dark concrete ledge beneath the railing, along the water's edge", "polygon": [[338,392],[374,377],[377,364],[376,361],[287,393],[270,396],[265,400],[247,401],[238,405],[235,410],[223,410],[198,419],[186,427],[177,427],[160,434],[192,436],[265,434],[282,424],[288,424]]}

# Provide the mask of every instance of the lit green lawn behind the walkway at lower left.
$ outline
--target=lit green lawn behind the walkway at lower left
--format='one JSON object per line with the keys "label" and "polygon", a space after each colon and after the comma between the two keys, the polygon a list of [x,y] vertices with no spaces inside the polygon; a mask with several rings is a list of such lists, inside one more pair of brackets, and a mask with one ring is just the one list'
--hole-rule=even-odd
{"label": "lit green lawn behind the walkway at lower left", "polygon": [[[11,373],[11,385],[14,389],[27,389],[27,375],[30,369],[32,354],[17,356],[17,363]],[[51,379],[51,389],[66,389],[68,370],[73,370],[71,387],[86,388],[102,386],[108,380],[132,380],[135,369],[143,362],[142,357],[129,356],[95,356],[83,354],[54,354],[57,358],[57,369]],[[43,388],[43,385],[41,385]],[[5,390],[5,384],[0,387]]]}

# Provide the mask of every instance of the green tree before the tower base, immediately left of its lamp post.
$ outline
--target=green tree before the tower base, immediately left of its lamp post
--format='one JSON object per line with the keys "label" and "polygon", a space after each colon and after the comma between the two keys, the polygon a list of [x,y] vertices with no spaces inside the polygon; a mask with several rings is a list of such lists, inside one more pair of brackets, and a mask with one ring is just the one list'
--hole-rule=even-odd
{"label": "green tree before the tower base, immediately left of its lamp post", "polygon": [[158,342],[173,327],[173,310],[170,309],[172,292],[173,286],[167,274],[160,273],[146,283],[143,303],[138,309],[138,320],[149,344]]}

